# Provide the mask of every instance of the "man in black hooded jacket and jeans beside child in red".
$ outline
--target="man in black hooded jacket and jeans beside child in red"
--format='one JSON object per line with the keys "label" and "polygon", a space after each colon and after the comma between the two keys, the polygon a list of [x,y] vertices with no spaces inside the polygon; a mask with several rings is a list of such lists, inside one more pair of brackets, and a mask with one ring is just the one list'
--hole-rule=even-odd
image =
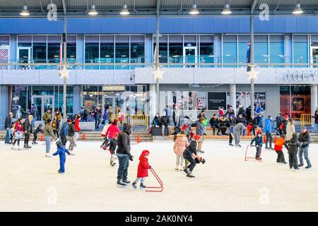
{"label": "man in black hooded jacket and jeans beside child in red", "polygon": [[122,132],[119,133],[117,138],[117,157],[119,162],[117,184],[119,186],[126,186],[126,184],[130,183],[127,180],[129,160],[133,160],[133,156],[130,153],[130,133],[131,125],[124,123]]}

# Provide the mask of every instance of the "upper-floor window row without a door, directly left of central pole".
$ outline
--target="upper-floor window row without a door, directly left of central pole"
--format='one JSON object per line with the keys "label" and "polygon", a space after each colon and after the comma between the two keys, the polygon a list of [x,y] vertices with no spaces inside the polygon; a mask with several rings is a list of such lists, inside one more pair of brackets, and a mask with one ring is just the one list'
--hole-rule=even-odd
{"label": "upper-floor window row without a door, directly left of central pole", "polygon": [[86,69],[135,69],[129,63],[145,62],[145,35],[85,35],[85,62],[120,64]]}

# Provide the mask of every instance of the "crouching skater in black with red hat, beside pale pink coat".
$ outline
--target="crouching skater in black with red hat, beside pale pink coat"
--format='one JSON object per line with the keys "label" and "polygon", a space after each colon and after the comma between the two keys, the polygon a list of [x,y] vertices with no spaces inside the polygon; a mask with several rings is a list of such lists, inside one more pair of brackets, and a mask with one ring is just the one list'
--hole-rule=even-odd
{"label": "crouching skater in black with red hat, beside pale pink coat", "polygon": [[200,139],[201,136],[199,136],[198,134],[194,135],[192,141],[183,152],[184,159],[190,163],[190,165],[186,165],[186,168],[183,170],[187,174],[187,177],[194,177],[194,175],[192,175],[192,172],[194,167],[196,167],[196,159],[201,160],[201,157],[198,155],[196,150],[196,143]]}

